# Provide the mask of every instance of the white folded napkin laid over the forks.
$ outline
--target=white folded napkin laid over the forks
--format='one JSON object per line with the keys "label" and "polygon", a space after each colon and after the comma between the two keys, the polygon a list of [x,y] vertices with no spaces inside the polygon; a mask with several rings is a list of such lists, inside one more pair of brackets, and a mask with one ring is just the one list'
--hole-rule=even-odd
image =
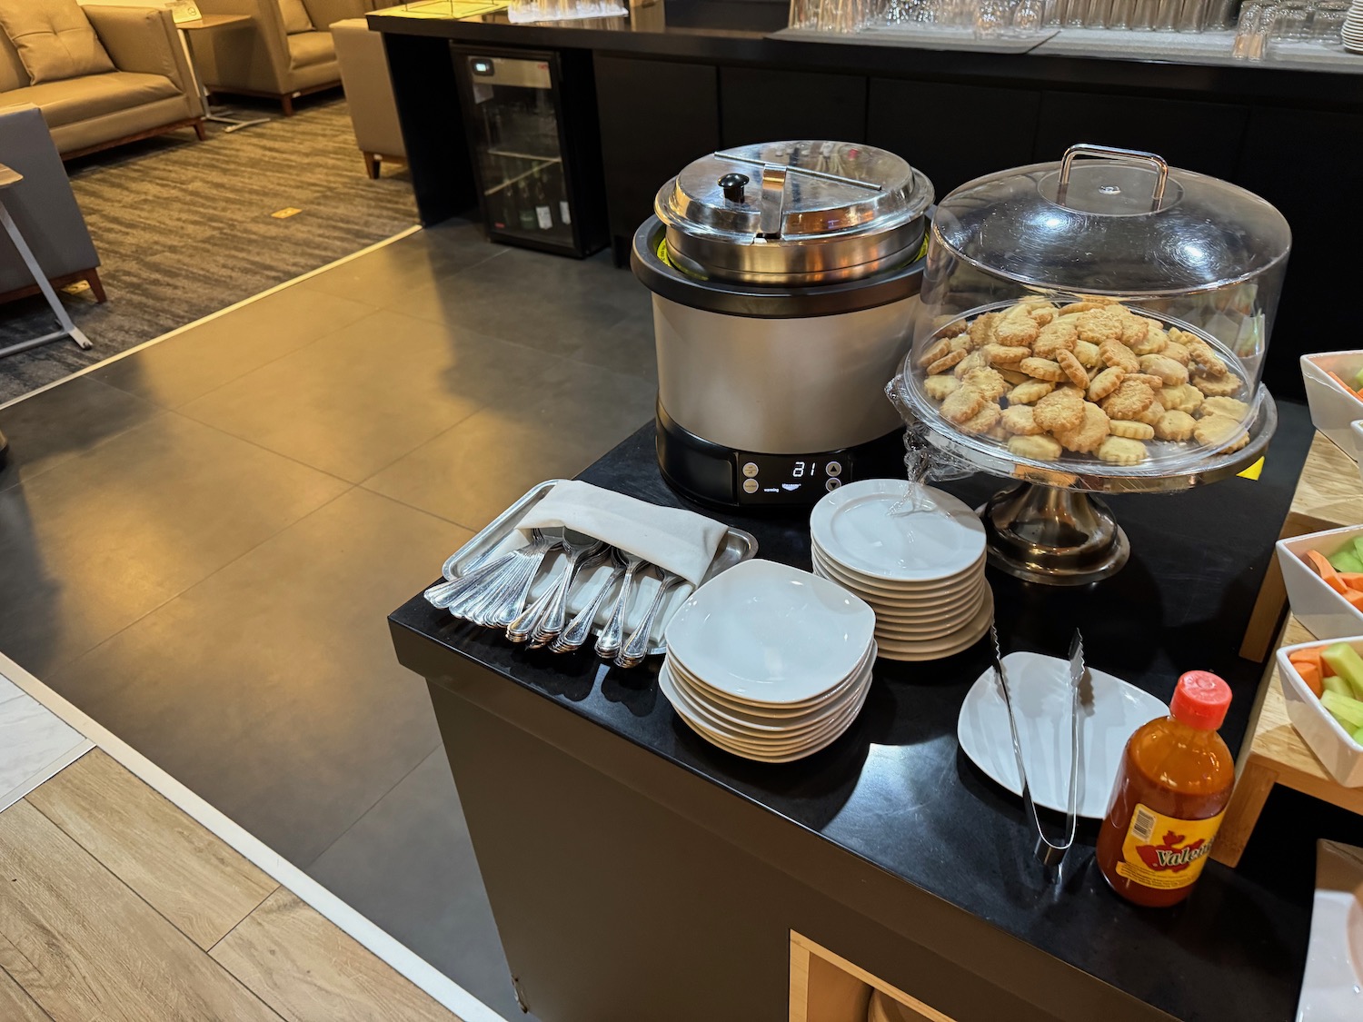
{"label": "white folded napkin laid over the forks", "polygon": [[571,529],[680,575],[692,586],[705,578],[726,527],[713,518],[658,507],[615,491],[570,480],[530,508],[518,529]]}

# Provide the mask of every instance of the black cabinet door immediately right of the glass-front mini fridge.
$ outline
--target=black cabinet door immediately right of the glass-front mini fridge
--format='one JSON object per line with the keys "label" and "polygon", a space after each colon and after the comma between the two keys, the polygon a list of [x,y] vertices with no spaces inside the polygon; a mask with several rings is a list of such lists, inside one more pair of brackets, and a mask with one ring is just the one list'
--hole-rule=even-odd
{"label": "black cabinet door immediately right of the glass-front mini fridge", "polygon": [[601,161],[616,263],[677,170],[720,146],[714,67],[596,57]]}

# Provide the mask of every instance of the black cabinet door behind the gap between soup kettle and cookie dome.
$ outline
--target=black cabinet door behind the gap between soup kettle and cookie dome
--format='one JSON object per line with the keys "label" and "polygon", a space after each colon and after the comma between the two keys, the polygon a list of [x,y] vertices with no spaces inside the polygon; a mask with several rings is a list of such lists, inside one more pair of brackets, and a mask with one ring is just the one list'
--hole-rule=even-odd
{"label": "black cabinet door behind the gap between soup kettle and cookie dome", "polygon": [[981,174],[1032,162],[1041,94],[872,78],[867,138],[932,180],[940,199]]}

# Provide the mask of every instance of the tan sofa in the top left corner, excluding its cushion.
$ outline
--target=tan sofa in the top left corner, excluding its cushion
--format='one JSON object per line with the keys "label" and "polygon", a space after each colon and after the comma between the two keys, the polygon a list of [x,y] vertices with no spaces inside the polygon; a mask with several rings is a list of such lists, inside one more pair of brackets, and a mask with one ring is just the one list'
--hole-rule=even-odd
{"label": "tan sofa in the top left corner, excluding its cushion", "polygon": [[[41,0],[0,0],[0,7],[35,3]],[[113,69],[31,84],[18,49],[0,31],[0,106],[33,104],[42,110],[63,159],[176,128],[192,127],[203,139],[203,106],[170,12],[82,10]]]}

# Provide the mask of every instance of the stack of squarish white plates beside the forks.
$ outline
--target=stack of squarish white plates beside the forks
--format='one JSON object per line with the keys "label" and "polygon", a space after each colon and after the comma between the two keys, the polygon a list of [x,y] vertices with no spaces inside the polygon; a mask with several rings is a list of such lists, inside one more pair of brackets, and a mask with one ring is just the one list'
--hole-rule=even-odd
{"label": "stack of squarish white plates beside the forks", "polygon": [[785,763],[831,744],[871,688],[875,613],[807,571],[750,560],[668,623],[658,687],[701,737]]}

